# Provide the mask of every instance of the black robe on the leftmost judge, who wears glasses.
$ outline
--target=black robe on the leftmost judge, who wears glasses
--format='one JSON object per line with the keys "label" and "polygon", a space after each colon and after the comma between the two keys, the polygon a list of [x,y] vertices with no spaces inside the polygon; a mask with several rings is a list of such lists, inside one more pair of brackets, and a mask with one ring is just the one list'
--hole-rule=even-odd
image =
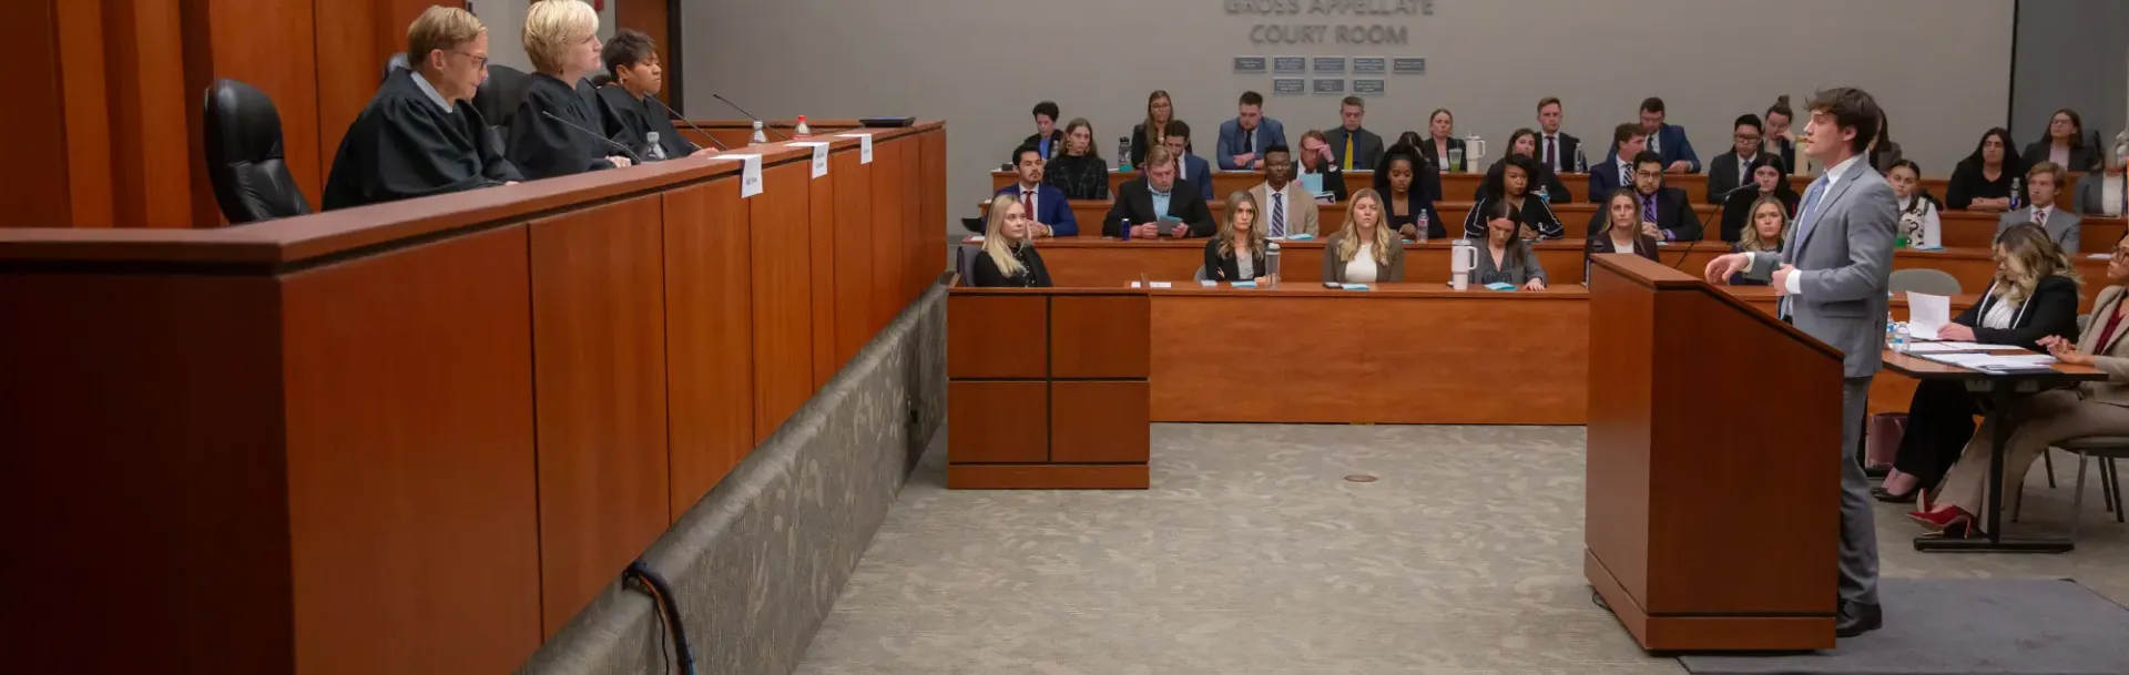
{"label": "black robe on the leftmost judge, who wears glasses", "polygon": [[460,100],[436,106],[407,68],[394,68],[341,136],[326,211],[524,181],[488,121]]}

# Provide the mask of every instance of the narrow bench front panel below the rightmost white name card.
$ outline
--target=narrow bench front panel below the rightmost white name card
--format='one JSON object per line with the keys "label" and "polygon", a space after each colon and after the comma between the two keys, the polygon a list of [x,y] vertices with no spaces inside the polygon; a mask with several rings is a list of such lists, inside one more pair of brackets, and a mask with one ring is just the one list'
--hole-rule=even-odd
{"label": "narrow bench front panel below the rightmost white name card", "polygon": [[828,155],[835,177],[835,362],[847,364],[873,339],[873,164],[856,151]]}

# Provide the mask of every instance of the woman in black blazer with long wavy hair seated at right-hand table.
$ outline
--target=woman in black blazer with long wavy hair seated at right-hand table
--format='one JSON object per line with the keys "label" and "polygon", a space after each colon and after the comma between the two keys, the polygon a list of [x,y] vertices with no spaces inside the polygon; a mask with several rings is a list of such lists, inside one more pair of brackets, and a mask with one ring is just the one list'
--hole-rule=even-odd
{"label": "woman in black blazer with long wavy hair seated at right-hand table", "polygon": [[[1937,332],[1946,341],[2040,347],[2044,336],[2078,339],[2076,264],[2037,226],[2016,226],[1995,245],[1997,277],[1982,300]],[[2046,351],[2046,349],[2042,349]],[[1925,381],[1908,402],[1908,430],[1884,483],[1871,494],[1886,503],[1910,503],[1918,490],[1935,488],[1974,439],[1980,409],[1957,381]]]}

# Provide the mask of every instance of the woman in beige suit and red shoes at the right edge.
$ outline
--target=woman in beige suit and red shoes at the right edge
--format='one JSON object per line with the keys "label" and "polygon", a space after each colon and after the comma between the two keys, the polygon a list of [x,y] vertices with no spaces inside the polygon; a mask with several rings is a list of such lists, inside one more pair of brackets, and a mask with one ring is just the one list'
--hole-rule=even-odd
{"label": "woman in beige suit and red shoes at the right edge", "polygon": [[[2003,494],[2025,483],[2027,468],[2048,445],[2084,437],[2129,437],[2129,298],[2123,281],[2129,279],[2129,236],[2114,243],[2114,258],[2108,260],[2108,285],[2093,300],[2093,317],[2084,326],[2084,336],[2067,341],[2061,336],[2040,339],[2057,360],[2076,366],[2093,366],[2108,373],[2106,381],[2086,381],[2074,390],[2052,390],[2020,398],[2016,405],[2018,428],[2010,432],[2010,454],[2003,456]],[[1988,454],[1995,451],[1995,417],[1991,415],[1967,443],[1965,454],[1952,471],[1944,475],[1937,490],[1922,494],[1922,511],[1908,513],[1944,537],[1976,537],[1976,513],[1988,509]]]}

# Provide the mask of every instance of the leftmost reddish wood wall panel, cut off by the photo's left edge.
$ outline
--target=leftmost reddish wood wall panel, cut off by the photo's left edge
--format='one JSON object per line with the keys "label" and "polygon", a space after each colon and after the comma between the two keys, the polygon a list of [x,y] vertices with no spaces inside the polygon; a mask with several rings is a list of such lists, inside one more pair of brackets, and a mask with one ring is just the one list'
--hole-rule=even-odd
{"label": "leftmost reddish wood wall panel, cut off by the photo's left edge", "polygon": [[66,170],[66,98],[60,85],[64,53],[60,51],[57,2],[19,2],[13,40],[0,40],[0,62],[13,64],[17,98],[0,106],[0,128],[17,130],[15,162],[0,168],[0,185],[13,196],[13,213],[0,228],[66,228],[72,221]]}

